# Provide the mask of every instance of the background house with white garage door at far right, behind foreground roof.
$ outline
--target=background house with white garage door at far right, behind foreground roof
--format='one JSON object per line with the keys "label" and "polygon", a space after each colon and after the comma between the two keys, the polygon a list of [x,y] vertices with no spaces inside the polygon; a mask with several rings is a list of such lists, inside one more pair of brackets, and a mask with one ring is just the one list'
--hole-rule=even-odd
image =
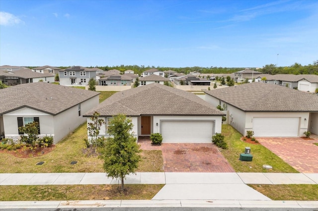
{"label": "background house with white garage door at far right, behind foreground roof", "polygon": [[264,83],[281,85],[303,92],[314,93],[318,88],[318,75],[261,74],[257,79],[261,79],[262,77],[266,77]]}

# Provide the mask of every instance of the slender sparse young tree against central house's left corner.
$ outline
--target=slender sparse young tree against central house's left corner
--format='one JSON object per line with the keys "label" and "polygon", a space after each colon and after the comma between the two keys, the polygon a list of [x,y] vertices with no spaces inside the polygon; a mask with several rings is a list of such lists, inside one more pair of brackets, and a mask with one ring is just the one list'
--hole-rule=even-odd
{"label": "slender sparse young tree against central house's left corner", "polygon": [[100,127],[105,124],[104,119],[99,119],[99,113],[95,111],[93,115],[89,118],[92,122],[88,122],[87,124],[87,130],[88,134],[91,137],[90,142],[91,144],[95,147],[95,153],[97,150],[97,147],[99,147],[99,140],[98,140],[98,135],[100,131]]}

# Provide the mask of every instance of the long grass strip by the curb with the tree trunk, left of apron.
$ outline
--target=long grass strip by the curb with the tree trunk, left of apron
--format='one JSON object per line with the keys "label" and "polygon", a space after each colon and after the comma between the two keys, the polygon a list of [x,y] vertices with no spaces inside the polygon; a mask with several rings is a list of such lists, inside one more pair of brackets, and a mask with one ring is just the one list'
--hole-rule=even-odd
{"label": "long grass strip by the curb with the tree trunk, left of apron", "polygon": [[[0,201],[151,200],[163,184],[0,186]],[[5,194],[4,194],[5,193]]]}

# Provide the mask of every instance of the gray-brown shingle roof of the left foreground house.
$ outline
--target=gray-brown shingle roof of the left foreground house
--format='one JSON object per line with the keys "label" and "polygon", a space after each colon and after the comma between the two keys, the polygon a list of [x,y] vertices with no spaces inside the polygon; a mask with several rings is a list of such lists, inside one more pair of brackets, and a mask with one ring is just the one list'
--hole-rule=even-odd
{"label": "gray-brown shingle roof of the left foreground house", "polygon": [[56,115],[96,95],[99,93],[44,82],[20,84],[0,89],[0,114],[26,106]]}

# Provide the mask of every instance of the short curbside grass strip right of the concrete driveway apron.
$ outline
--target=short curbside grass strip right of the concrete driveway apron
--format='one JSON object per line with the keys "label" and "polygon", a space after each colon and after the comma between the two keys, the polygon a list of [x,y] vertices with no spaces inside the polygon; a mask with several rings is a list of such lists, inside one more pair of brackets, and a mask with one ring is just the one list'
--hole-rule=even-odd
{"label": "short curbside grass strip right of the concrete driveway apron", "polygon": [[318,185],[248,185],[271,200],[318,201]]}

